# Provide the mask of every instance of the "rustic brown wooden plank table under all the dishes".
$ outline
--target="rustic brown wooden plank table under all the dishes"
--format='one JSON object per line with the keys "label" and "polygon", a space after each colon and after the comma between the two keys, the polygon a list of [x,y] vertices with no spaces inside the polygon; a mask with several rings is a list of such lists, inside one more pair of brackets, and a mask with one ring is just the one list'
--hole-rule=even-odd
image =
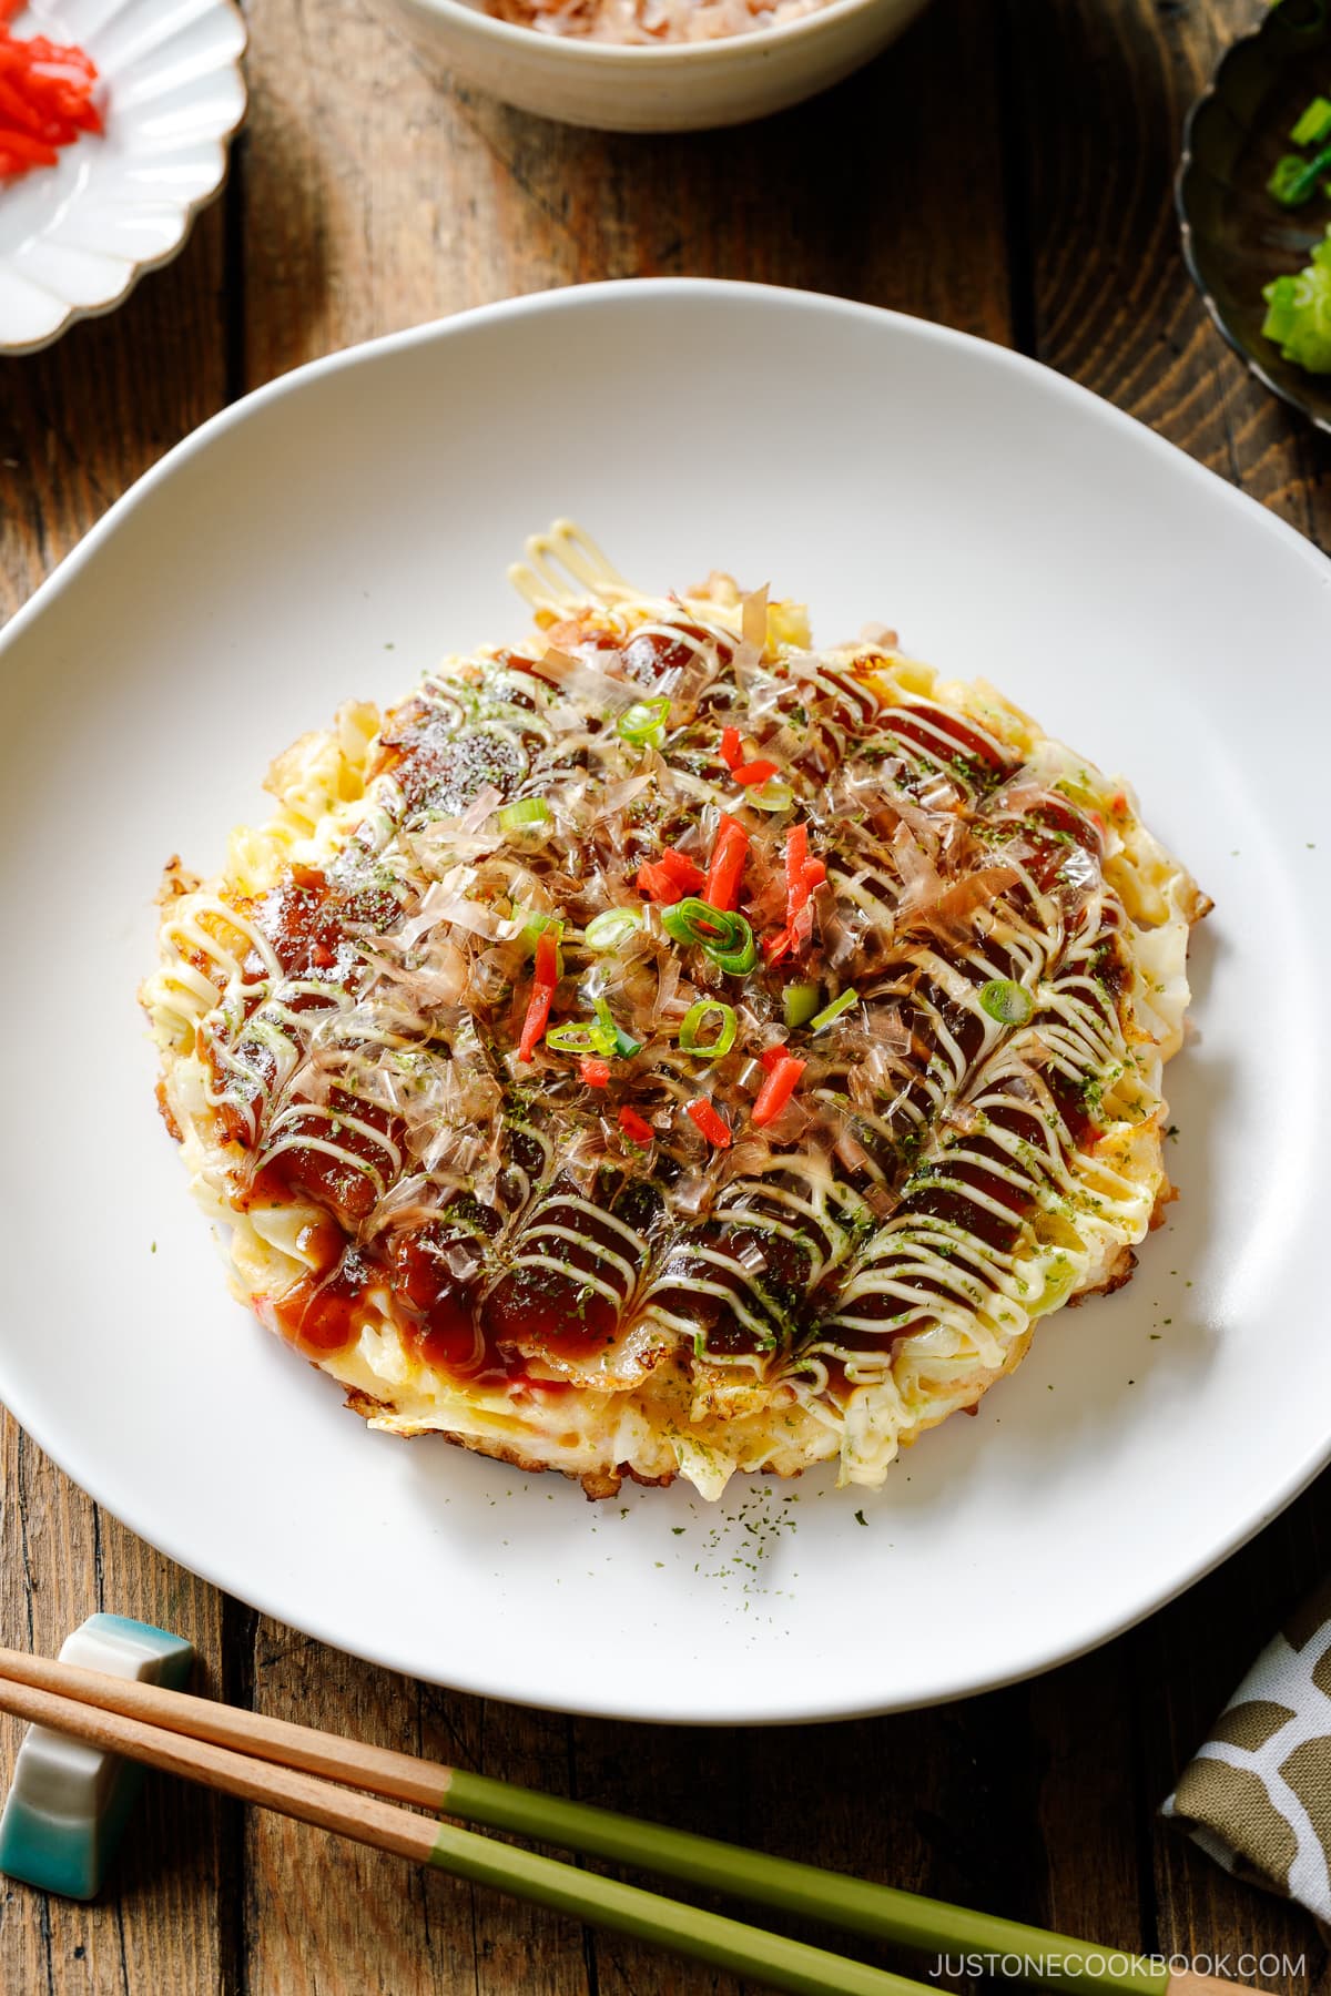
{"label": "rustic brown wooden plank table under all the dishes", "polygon": [[[261,0],[223,204],[124,309],[0,365],[4,611],[162,451],[271,375],[515,291],[678,271],[840,291],[1018,345],[1325,547],[1331,449],[1205,323],[1169,206],[1183,108],[1255,12],[936,0],[816,104],[740,132],[627,140],[427,76],[361,0]],[[28,1317],[22,1335],[40,1333]],[[1233,1884],[1153,1810],[1325,1571],[1327,1479],[1082,1663],[968,1705],[754,1735],[569,1721],[367,1669],[160,1559],[12,1423],[0,1527],[4,1643],[50,1653],[90,1611],[128,1611],[188,1631],[208,1685],[241,1705],[1121,1946],[1301,1956],[1273,1988],[1325,1980],[1309,1918]],[[6,1723],[0,1760],[14,1739]],[[166,1782],[100,1904],[0,1880],[4,1996],[736,1988]]]}

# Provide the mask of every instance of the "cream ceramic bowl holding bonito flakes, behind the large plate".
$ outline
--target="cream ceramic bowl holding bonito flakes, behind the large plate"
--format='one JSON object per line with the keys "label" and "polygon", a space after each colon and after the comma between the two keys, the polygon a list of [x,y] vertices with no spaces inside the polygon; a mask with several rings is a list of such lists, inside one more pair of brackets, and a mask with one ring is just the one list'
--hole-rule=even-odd
{"label": "cream ceramic bowl holding bonito flakes, behind the large plate", "polygon": [[926,0],[832,0],[782,28],[619,48],[493,20],[481,0],[393,0],[435,64],[519,110],[601,132],[706,132],[766,118],[876,56]]}

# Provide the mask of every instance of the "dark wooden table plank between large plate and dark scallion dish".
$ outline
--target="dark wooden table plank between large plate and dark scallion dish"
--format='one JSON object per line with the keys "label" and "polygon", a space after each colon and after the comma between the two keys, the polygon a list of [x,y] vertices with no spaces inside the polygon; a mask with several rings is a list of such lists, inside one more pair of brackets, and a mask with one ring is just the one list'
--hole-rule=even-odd
{"label": "dark wooden table plank between large plate and dark scallion dish", "polygon": [[1014,0],[1032,349],[1327,547],[1331,439],[1217,339],[1177,253],[1183,114],[1259,14],[1255,0]]}

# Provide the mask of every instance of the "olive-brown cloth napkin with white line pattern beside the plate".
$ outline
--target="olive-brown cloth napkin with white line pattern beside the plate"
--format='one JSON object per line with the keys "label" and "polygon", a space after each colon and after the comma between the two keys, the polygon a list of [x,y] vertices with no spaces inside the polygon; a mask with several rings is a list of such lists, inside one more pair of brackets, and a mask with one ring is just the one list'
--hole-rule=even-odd
{"label": "olive-brown cloth napkin with white line pattern beside the plate", "polygon": [[1257,1657],[1161,1814],[1331,1920],[1331,1583]]}

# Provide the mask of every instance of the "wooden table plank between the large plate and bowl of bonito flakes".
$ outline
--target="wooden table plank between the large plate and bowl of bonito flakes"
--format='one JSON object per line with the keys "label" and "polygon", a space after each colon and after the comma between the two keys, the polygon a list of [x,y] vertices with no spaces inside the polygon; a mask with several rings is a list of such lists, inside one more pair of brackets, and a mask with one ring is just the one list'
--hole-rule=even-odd
{"label": "wooden table plank between the large plate and bowl of bonito flakes", "polygon": [[247,385],[595,277],[804,285],[1008,337],[988,0],[938,0],[900,50],[810,106],[684,138],[573,132],[439,84],[361,8],[273,0],[251,36]]}

